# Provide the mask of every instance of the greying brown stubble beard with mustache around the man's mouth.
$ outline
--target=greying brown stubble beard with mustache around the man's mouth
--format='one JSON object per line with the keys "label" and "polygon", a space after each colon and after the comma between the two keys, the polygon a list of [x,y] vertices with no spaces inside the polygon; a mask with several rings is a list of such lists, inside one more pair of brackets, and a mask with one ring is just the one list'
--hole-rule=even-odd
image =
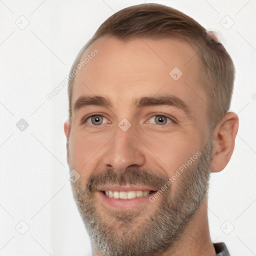
{"label": "greying brown stubble beard with mustache around the man's mouth", "polygon": [[[188,220],[194,215],[207,194],[211,150],[211,143],[208,142],[197,163],[189,166],[186,172],[177,178],[181,178],[178,184],[179,190],[173,191],[170,185],[159,196],[161,197],[158,200],[159,206],[154,212],[150,212],[150,203],[156,202],[149,202],[139,210],[110,211],[104,208],[104,212],[100,212],[96,204],[100,205],[100,208],[104,206],[97,201],[91,189],[87,185],[83,186],[79,179],[71,183],[73,197],[92,247],[106,256],[156,256],[175,246]],[[94,181],[96,180],[95,185],[107,183],[105,179],[101,179],[100,175],[101,173],[94,175],[92,173],[90,176]],[[107,181],[117,181],[117,183],[120,181],[123,184],[145,185],[147,185],[146,178],[148,180],[154,178],[149,176],[148,172],[138,169],[130,169],[127,173],[108,171],[107,176],[105,172],[103,177]],[[167,180],[162,178],[162,184]]]}

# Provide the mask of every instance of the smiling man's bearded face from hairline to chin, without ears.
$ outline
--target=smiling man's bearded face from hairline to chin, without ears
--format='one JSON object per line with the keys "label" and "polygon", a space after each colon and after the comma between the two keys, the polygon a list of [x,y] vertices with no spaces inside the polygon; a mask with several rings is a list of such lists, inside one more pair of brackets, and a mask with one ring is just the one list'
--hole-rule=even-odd
{"label": "smiling man's bearded face from hairline to chin, without ears", "polygon": [[[207,191],[211,134],[201,62],[178,39],[101,37],[81,60],[95,48],[75,76],[71,99],[67,161],[80,175],[73,195],[99,251],[152,254],[181,235]],[[137,197],[111,198],[105,190],[135,190],[120,196]],[[138,192],[147,190],[154,192]]]}

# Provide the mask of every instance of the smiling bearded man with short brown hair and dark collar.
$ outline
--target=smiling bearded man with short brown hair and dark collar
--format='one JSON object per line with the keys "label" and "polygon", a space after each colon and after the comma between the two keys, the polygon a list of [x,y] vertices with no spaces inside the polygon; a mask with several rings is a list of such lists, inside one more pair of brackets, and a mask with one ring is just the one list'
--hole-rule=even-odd
{"label": "smiling bearded man with short brown hair and dark collar", "polygon": [[131,6],[101,24],[69,77],[67,162],[93,255],[229,255],[207,219],[210,172],[238,129],[217,35],[173,8]]}

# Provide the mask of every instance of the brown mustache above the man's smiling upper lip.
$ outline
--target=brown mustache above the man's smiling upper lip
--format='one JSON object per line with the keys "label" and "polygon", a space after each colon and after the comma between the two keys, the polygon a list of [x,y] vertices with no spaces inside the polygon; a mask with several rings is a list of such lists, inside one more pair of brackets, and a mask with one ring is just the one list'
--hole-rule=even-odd
{"label": "brown mustache above the man's smiling upper lip", "polygon": [[167,181],[167,176],[149,173],[145,169],[130,168],[125,172],[107,169],[92,173],[88,178],[86,187],[90,192],[95,192],[99,187],[108,184],[149,185],[159,190]]}

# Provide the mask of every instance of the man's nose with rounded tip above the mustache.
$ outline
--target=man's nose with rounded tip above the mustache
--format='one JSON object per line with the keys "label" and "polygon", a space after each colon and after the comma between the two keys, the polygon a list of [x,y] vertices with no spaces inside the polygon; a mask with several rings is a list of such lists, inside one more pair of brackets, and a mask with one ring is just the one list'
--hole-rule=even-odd
{"label": "man's nose with rounded tip above the mustache", "polygon": [[142,145],[132,128],[123,131],[117,127],[116,134],[107,144],[103,155],[105,166],[124,172],[128,167],[144,164]]}

